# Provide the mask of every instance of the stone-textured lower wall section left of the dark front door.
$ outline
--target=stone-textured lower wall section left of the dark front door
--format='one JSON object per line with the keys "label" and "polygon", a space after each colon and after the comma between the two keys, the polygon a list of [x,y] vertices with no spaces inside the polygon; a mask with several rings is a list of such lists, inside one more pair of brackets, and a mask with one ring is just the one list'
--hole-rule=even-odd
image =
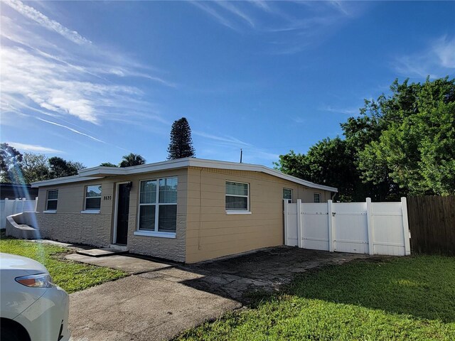
{"label": "stone-textured lower wall section left of the dark front door", "polygon": [[110,244],[111,216],[80,213],[34,212],[36,220],[29,224],[41,233],[41,238],[58,242],[107,247]]}

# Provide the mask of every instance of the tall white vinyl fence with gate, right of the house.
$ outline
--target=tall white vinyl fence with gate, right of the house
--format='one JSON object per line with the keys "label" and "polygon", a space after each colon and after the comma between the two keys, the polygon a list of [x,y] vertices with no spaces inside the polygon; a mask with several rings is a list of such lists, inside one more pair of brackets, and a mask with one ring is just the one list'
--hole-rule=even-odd
{"label": "tall white vinyl fence with gate, right of the house", "polygon": [[284,244],[304,249],[411,253],[406,198],[401,202],[289,203],[284,200]]}

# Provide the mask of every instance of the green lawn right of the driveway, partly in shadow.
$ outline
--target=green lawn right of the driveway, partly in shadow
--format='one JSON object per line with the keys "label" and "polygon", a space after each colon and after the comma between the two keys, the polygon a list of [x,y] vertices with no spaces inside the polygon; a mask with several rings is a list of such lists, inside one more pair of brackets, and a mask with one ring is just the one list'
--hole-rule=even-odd
{"label": "green lawn right of the driveway, partly in shadow", "polygon": [[328,266],[178,340],[455,340],[455,258]]}

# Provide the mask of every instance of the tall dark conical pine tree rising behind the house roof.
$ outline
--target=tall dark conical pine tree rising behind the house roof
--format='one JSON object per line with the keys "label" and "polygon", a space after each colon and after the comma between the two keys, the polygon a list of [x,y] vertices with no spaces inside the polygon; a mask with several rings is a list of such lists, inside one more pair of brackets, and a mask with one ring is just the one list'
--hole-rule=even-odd
{"label": "tall dark conical pine tree rising behind the house roof", "polygon": [[191,139],[190,124],[185,117],[174,121],[171,129],[171,142],[168,146],[168,160],[176,158],[195,158],[196,151]]}

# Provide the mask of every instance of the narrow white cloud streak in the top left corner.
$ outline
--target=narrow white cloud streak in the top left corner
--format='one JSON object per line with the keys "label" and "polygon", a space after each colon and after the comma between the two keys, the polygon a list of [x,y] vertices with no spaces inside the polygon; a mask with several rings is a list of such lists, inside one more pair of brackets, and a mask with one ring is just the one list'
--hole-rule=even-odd
{"label": "narrow white cloud streak in the top left corner", "polygon": [[80,34],[77,33],[76,31],[71,31],[70,29],[66,28],[65,26],[62,26],[57,21],[51,20],[50,18],[45,16],[40,11],[33,9],[33,7],[23,4],[21,1],[4,0],[4,3],[11,6],[11,8],[15,9],[16,11],[21,13],[23,16],[26,16],[27,18],[30,18],[33,21],[36,21],[36,23],[43,26],[43,28],[46,28],[49,31],[54,31],[54,32],[60,34],[60,36],[63,36],[65,38],[67,38],[68,40],[73,41],[73,43],[76,43],[79,45],[92,43],[90,40],[80,36]]}

